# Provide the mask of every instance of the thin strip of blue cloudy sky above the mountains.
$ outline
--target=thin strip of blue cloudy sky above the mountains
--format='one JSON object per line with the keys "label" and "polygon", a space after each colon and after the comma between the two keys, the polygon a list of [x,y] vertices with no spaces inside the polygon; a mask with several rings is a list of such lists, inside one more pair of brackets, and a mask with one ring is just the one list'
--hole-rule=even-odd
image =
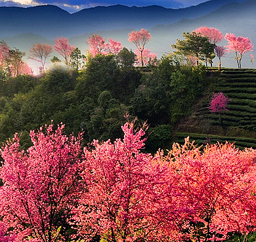
{"label": "thin strip of blue cloudy sky above the mountains", "polygon": [[144,7],[159,5],[171,9],[180,9],[198,5],[207,0],[0,0],[0,7],[34,7],[38,5],[56,5],[68,12],[77,12],[96,6],[125,5]]}

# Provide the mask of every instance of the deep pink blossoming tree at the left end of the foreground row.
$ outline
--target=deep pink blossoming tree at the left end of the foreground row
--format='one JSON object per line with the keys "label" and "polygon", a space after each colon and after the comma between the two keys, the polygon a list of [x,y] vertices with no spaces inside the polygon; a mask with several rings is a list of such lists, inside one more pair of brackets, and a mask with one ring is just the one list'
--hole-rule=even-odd
{"label": "deep pink blossoming tree at the left end of the foreground row", "polygon": [[[64,125],[31,131],[32,146],[20,148],[15,134],[2,148],[1,221],[10,233],[40,242],[65,239],[65,223],[79,197],[81,137],[63,134]],[[22,241],[20,239],[19,241]]]}

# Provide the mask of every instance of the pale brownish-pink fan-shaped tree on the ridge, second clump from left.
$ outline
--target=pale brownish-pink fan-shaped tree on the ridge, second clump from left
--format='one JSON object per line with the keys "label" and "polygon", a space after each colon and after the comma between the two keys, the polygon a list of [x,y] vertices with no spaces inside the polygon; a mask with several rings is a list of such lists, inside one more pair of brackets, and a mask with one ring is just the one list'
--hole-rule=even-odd
{"label": "pale brownish-pink fan-shaped tree on the ridge, second clump from left", "polygon": [[42,65],[42,71],[45,71],[45,62],[52,52],[53,47],[51,47],[51,45],[35,43],[30,48],[29,58],[40,62]]}

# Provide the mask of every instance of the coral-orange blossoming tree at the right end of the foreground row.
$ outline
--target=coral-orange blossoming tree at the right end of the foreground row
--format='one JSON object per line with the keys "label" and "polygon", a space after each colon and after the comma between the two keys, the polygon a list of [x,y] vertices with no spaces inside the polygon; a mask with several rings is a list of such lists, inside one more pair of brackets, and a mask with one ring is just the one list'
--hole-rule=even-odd
{"label": "coral-orange blossoming tree at the right end of the foreground row", "polygon": [[254,170],[255,155],[256,150],[238,150],[228,143],[208,145],[202,151],[190,143],[189,137],[182,146],[173,144],[167,157],[170,176],[176,181],[173,186],[182,194],[182,206],[185,205],[187,216],[181,224],[186,228],[181,226],[181,230],[187,239],[217,241],[224,240],[230,232],[248,232],[250,226],[250,232],[255,230],[254,218],[247,220],[246,230],[245,211],[252,204],[244,203],[254,197],[251,191],[255,178],[248,175]]}

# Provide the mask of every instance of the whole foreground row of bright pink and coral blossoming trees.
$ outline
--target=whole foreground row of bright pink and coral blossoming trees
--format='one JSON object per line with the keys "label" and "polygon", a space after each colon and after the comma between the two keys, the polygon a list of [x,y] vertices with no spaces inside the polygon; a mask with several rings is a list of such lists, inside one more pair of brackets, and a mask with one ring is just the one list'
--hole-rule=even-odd
{"label": "whole foreground row of bright pink and coral blossoming trees", "polygon": [[82,150],[82,134],[63,129],[32,131],[28,150],[17,135],[2,148],[0,241],[218,241],[256,231],[256,150],[200,150],[186,138],[152,155],[134,123],[123,140]]}

